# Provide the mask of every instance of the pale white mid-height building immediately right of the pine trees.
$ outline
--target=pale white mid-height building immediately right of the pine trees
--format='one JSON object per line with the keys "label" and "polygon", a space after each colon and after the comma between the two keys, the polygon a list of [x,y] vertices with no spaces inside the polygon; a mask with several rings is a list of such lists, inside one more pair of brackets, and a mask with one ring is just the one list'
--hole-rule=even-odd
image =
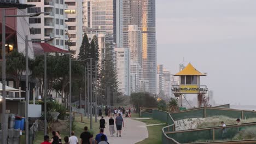
{"label": "pale white mid-height building immediately right of the pine trees", "polygon": [[114,53],[119,88],[124,95],[130,95],[130,51],[128,48],[118,47],[114,49]]}

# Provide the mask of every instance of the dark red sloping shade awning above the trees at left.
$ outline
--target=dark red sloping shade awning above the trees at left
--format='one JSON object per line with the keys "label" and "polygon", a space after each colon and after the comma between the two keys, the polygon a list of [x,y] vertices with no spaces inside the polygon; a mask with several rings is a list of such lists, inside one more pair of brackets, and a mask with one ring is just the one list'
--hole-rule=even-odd
{"label": "dark red sloping shade awning above the trees at left", "polygon": [[43,55],[44,52],[67,53],[68,51],[59,49],[48,43],[33,43],[34,55]]}

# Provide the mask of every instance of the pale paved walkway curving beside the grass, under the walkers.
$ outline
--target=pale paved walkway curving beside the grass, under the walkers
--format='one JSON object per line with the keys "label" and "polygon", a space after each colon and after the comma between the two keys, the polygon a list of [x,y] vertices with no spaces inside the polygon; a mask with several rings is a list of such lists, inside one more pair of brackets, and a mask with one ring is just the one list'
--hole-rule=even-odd
{"label": "pale paved walkway curving beside the grass, under the walkers", "polygon": [[107,123],[104,133],[107,135],[108,142],[111,144],[132,144],[148,138],[148,129],[146,124],[131,118],[124,118],[125,127],[122,128],[121,137],[117,137],[116,127],[114,137],[110,137],[108,125],[109,117],[104,117],[104,119]]}

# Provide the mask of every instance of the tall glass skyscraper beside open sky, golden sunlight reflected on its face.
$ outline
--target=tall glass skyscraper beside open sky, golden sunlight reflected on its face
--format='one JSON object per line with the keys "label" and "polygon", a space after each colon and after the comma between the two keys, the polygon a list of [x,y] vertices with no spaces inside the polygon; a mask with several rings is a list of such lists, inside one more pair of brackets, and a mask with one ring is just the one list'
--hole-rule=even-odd
{"label": "tall glass skyscraper beside open sky, golden sunlight reflected on its face", "polygon": [[143,77],[156,93],[155,0],[142,0],[142,52]]}

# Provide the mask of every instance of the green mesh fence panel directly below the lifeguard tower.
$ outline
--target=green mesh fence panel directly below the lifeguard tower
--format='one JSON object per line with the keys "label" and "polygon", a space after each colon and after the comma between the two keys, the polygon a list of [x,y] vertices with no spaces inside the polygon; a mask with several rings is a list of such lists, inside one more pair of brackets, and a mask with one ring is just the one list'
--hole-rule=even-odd
{"label": "green mesh fence panel directly below the lifeguard tower", "polygon": [[174,121],[178,121],[186,118],[203,117],[203,109],[194,109],[194,110],[188,110],[188,111],[181,111],[177,113],[171,113],[171,116],[174,119]]}

